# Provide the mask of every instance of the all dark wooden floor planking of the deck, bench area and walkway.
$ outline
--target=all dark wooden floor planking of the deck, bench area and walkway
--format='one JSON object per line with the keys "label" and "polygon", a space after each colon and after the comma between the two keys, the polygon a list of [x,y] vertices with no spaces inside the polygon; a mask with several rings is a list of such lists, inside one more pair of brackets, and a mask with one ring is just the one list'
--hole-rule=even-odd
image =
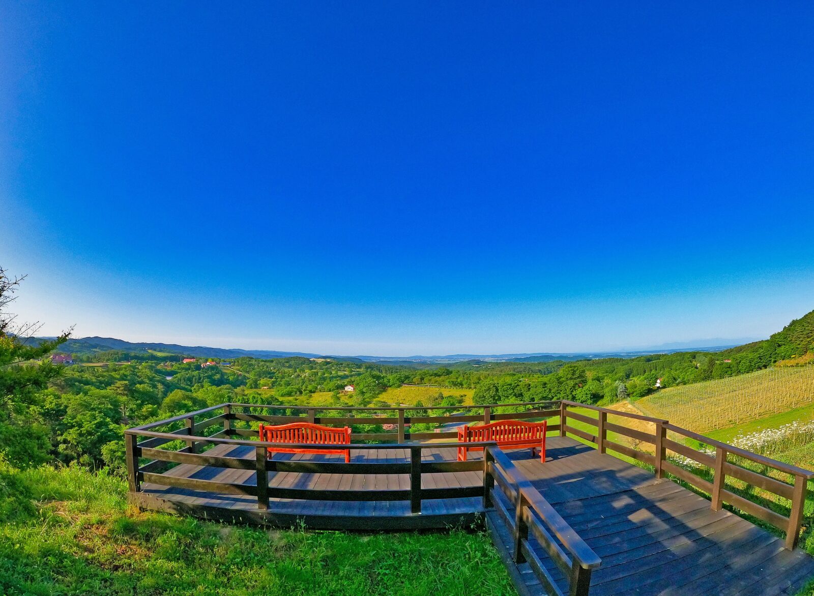
{"label": "all dark wooden floor planking of the deck, bench area and walkway", "polygon": [[[540,463],[528,449],[508,452],[532,484],[602,558],[593,572],[591,594],[787,594],[814,576],[814,559],[802,550],[782,548],[782,541],[762,528],[730,513],[711,511],[710,502],[671,480],[567,437],[549,436],[547,460]],[[254,458],[249,446],[217,445],[212,455]],[[374,455],[375,454],[375,455]],[[470,458],[482,457],[479,453]],[[275,459],[344,461],[341,455],[275,454]],[[424,449],[423,462],[455,461],[455,449]],[[352,450],[352,462],[409,462],[409,449],[379,452]],[[255,484],[251,470],[180,464],[166,472],[186,478]],[[422,488],[480,486],[479,471],[422,474]],[[409,489],[409,475],[313,474],[269,472],[269,485],[282,488],[330,490]],[[151,497],[190,506],[221,508],[257,515],[256,498],[202,493],[144,484]],[[499,493],[497,493],[499,494]],[[507,503],[511,512],[514,508]],[[207,511],[211,511],[207,509]],[[416,519],[409,502],[313,502],[269,499],[272,514],[345,516],[351,519]],[[444,527],[456,515],[482,512],[479,498],[422,501],[423,527]],[[288,519],[282,517],[281,519]],[[440,520],[444,519],[444,523]],[[487,512],[501,556],[510,567],[521,594],[541,594],[542,586],[527,563],[514,565],[507,553],[513,540],[493,512]],[[318,525],[318,524],[317,524]],[[367,527],[367,526],[365,526]],[[373,528],[374,525],[370,525]],[[409,527],[409,526],[405,526]],[[532,539],[532,550],[561,589],[566,579]],[[514,566],[514,568],[512,568]]]}

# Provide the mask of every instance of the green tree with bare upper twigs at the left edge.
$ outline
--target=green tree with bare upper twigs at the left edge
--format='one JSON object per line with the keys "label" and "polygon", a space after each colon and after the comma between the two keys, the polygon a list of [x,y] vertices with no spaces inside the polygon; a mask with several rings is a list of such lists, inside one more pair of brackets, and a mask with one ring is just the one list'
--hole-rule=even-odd
{"label": "green tree with bare upper twigs at the left edge", "polygon": [[31,425],[28,410],[40,401],[40,392],[62,370],[43,361],[68,340],[71,331],[55,340],[35,342],[37,322],[18,323],[8,312],[23,277],[11,278],[0,267],[0,454],[17,466],[43,462],[48,457],[46,433]]}

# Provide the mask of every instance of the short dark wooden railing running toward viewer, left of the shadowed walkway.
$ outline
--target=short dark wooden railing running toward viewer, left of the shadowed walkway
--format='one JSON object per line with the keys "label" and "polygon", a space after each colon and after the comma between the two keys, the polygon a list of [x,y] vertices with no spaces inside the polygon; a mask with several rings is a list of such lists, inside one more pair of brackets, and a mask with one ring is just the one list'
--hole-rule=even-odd
{"label": "short dark wooden railing running toward viewer, left of the shadowed walkway", "polygon": [[[514,515],[506,503],[514,506]],[[531,532],[565,576],[567,594],[588,594],[591,572],[599,567],[602,560],[497,447],[484,450],[484,509],[491,506],[512,532],[515,563],[527,562],[550,594],[563,594],[533,549],[529,541]]]}

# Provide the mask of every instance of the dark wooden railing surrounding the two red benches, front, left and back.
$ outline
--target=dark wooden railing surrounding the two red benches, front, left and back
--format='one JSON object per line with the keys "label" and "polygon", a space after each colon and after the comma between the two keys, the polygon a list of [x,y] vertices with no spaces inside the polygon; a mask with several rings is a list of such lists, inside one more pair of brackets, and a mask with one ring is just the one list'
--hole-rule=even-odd
{"label": "dark wooden railing surrounding the two red benches, front, left and back", "polygon": [[[128,464],[129,490],[138,493],[142,483],[160,484],[182,489],[208,491],[211,493],[240,494],[256,497],[260,510],[269,507],[270,498],[305,499],[314,501],[409,501],[410,511],[420,513],[422,501],[427,499],[446,499],[462,497],[483,497],[484,487],[464,486],[450,488],[423,489],[422,474],[434,472],[483,471],[483,461],[445,461],[422,462],[423,449],[457,448],[457,442],[416,443],[406,440],[444,440],[449,437],[457,438],[457,432],[409,432],[411,423],[466,423],[490,422],[501,419],[540,419],[556,416],[559,410],[551,408],[550,402],[531,402],[521,404],[500,404],[466,406],[469,410],[483,410],[480,414],[446,415],[446,416],[419,416],[409,417],[405,412],[409,410],[462,410],[462,406],[451,407],[420,407],[420,408],[309,408],[286,407],[279,405],[255,405],[225,403],[214,405],[204,410],[197,410],[189,414],[181,414],[159,422],[133,427],[125,431],[125,448]],[[495,413],[493,410],[517,409],[536,407],[514,413]],[[293,410],[300,415],[291,414],[255,414],[251,410]],[[348,412],[348,414],[361,414],[352,416],[317,416],[317,412]],[[371,416],[372,412],[395,413],[396,416],[387,418]],[[267,441],[249,440],[256,438],[258,432],[252,428],[235,427],[235,422],[243,423],[279,423],[286,424],[297,421],[308,421],[317,424],[350,426],[352,424],[387,424],[397,425],[397,432],[381,433],[354,433],[353,440],[381,440],[379,444],[353,444],[353,445],[320,445],[324,449],[407,449],[409,460],[407,462],[313,462],[275,460],[267,457],[268,447],[286,447],[307,449],[313,445],[276,444]],[[179,426],[168,429],[167,427]],[[211,432],[204,434],[204,432]],[[558,429],[558,425],[551,427]],[[139,438],[142,438],[139,441]],[[236,437],[236,438],[232,438]],[[394,445],[387,440],[397,440]],[[166,449],[173,441],[182,441],[186,446],[180,449]],[[251,447],[255,454],[253,458],[229,457],[221,454],[207,454],[207,450],[215,445],[234,445]],[[470,446],[486,447],[496,445],[494,441],[481,441],[471,443]],[[147,459],[147,462],[142,462]],[[187,463],[195,466],[211,466],[252,470],[256,472],[256,484],[217,482],[214,480],[201,480],[195,478],[182,478],[173,475],[164,475],[161,471],[168,464]],[[309,474],[407,474],[410,479],[409,489],[295,489],[269,486],[269,471],[273,472],[300,472]]]}

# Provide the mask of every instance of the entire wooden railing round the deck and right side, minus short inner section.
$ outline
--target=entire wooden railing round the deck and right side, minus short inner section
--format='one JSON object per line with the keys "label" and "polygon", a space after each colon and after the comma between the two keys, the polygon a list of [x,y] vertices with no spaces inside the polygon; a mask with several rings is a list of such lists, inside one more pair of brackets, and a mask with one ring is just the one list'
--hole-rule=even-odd
{"label": "entire wooden railing round the deck and right side, minus short inner section", "polygon": [[[574,411],[577,409],[584,411],[581,413]],[[427,415],[408,415],[415,410],[424,410]],[[461,410],[465,411],[462,412]],[[596,413],[595,418],[593,415],[587,415],[594,412]],[[326,415],[319,415],[322,413],[326,413]],[[612,422],[609,421],[609,416],[614,417]],[[549,432],[559,432],[561,436],[577,436],[597,445],[597,449],[601,453],[621,454],[639,462],[644,462],[654,468],[655,475],[659,478],[665,474],[670,474],[694,486],[696,489],[708,493],[711,497],[712,509],[717,511],[724,503],[727,503],[739,511],[754,515],[756,518],[762,519],[764,522],[786,532],[787,548],[793,549],[797,544],[803,519],[803,505],[807,496],[807,482],[814,477],[814,473],[811,471],[777,462],[758,454],[752,454],[744,449],[738,449],[733,445],[727,445],[706,436],[698,435],[698,433],[676,427],[667,420],[608,410],[573,401],[421,408],[409,406],[391,408],[313,408],[308,406],[225,403],[125,431],[129,488],[131,492],[138,492],[142,482],[155,482],[165,486],[173,485],[189,489],[202,489],[214,493],[247,494],[257,498],[260,508],[268,506],[269,498],[339,501],[409,500],[412,511],[421,511],[421,502],[427,498],[488,497],[488,495],[484,493],[486,484],[484,484],[484,488],[422,489],[422,473],[480,470],[483,469],[484,462],[422,462],[422,449],[457,447],[457,442],[422,444],[414,441],[454,440],[457,438],[457,432],[446,432],[444,430],[440,430],[440,432],[410,432],[411,424],[490,423],[503,419],[543,419],[551,417],[559,417],[559,421],[555,424],[549,424]],[[651,423],[652,432],[641,428],[632,428],[624,423],[625,420],[634,419]],[[340,427],[355,424],[392,424],[394,428],[392,432],[354,433],[353,440],[373,440],[379,442],[379,445],[356,444],[350,445],[350,449],[409,449],[409,461],[395,464],[276,461],[265,457],[265,448],[274,444],[250,440],[257,436],[257,431],[248,427],[252,423],[285,424],[298,421]],[[586,431],[584,428],[575,427],[573,421],[579,421],[583,425],[587,425],[589,430]],[[632,440],[632,445],[622,445],[615,440],[609,440],[608,432],[628,437]],[[139,437],[142,438],[140,442]],[[685,445],[683,438],[710,445],[716,452],[713,455],[694,449],[689,445]],[[173,441],[182,441],[184,446],[175,450],[166,449],[167,445]],[[388,441],[395,442],[395,445],[388,443]],[[652,453],[650,453],[650,450],[636,449],[637,442],[652,445]],[[208,455],[206,452],[213,445],[248,445],[252,449],[256,449],[256,457],[252,460]],[[483,445],[493,444],[486,442]],[[337,448],[346,449],[348,445],[339,445]],[[495,449],[489,449],[489,451],[492,454],[497,453]],[[703,467],[707,467],[710,473],[705,478],[703,475],[690,471],[687,467],[678,465],[675,458],[672,461],[667,458],[668,451],[693,459]],[[730,456],[735,461],[730,460]],[[759,464],[763,469],[761,471],[750,470],[739,465],[737,458]],[[142,462],[142,459],[147,459],[147,461]],[[254,470],[257,474],[258,483],[256,485],[228,484],[212,480],[178,478],[159,473],[168,464],[172,463],[191,463],[199,466]],[[772,475],[761,473],[767,470],[776,475],[779,473],[790,475],[792,480],[786,482],[772,477]],[[264,479],[268,478],[269,471],[409,474],[411,488],[409,490],[383,489],[374,491],[282,489],[269,487],[268,482],[264,482]],[[492,476],[484,470],[484,483],[487,482],[488,477]],[[772,511],[764,504],[755,502],[756,497],[751,493],[737,491],[737,489],[729,487],[726,483],[728,477],[741,480],[746,484],[787,499],[790,502],[788,515],[782,515],[777,511]]]}

